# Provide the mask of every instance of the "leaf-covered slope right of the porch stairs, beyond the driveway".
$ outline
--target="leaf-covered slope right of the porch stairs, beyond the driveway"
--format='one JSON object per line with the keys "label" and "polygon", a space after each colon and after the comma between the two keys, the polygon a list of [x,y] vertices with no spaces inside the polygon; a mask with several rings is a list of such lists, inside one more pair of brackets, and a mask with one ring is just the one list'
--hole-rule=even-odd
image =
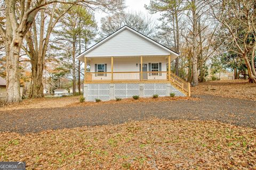
{"label": "leaf-covered slope right of the porch stairs, beyond the driveway", "polygon": [[219,80],[199,83],[191,88],[192,94],[256,100],[256,84],[248,80]]}

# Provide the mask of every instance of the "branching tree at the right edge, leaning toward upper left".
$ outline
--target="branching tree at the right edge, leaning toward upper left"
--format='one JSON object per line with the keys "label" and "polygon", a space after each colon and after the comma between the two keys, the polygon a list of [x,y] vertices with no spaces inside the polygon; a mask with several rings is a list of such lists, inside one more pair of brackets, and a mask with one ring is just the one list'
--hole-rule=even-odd
{"label": "branching tree at the right edge, leaning toward upper left", "polygon": [[256,3],[253,0],[222,0],[209,3],[212,14],[229,32],[232,43],[247,66],[249,78],[256,83]]}

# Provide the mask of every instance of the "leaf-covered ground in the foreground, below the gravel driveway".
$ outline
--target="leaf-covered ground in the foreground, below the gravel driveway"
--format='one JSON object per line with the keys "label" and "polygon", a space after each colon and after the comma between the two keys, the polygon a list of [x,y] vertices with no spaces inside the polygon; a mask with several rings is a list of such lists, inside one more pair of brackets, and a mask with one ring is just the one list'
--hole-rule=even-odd
{"label": "leaf-covered ground in the foreground, below the gravel driveway", "polygon": [[214,121],[7,132],[0,141],[0,161],[27,169],[256,169],[255,129]]}

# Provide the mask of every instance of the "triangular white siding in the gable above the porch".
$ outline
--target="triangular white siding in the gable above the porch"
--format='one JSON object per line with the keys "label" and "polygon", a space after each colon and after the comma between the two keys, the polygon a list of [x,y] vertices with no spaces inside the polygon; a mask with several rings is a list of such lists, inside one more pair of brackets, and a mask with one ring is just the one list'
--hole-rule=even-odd
{"label": "triangular white siding in the gable above the porch", "polygon": [[105,43],[87,53],[86,57],[170,55],[170,52],[156,46],[145,38],[124,29]]}

